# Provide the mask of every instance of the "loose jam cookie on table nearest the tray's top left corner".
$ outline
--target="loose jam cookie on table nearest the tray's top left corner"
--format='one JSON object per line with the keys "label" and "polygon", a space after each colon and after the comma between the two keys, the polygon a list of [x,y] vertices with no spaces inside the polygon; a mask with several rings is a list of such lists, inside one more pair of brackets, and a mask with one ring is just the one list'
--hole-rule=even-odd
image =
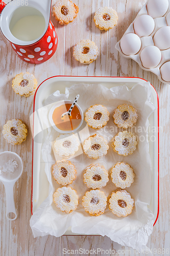
{"label": "loose jam cookie on table nearest the tray's top left corner", "polygon": [[28,97],[37,89],[37,79],[29,72],[20,73],[12,80],[12,88],[16,94]]}

